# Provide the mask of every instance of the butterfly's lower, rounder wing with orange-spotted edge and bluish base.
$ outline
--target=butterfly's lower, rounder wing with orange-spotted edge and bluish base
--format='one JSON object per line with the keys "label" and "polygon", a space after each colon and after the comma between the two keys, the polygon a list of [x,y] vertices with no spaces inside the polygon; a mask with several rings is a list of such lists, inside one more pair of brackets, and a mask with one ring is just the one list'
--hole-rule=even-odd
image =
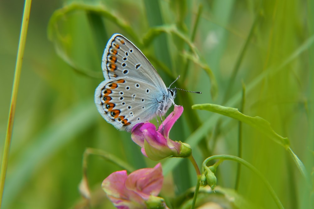
{"label": "butterfly's lower, rounder wing with orange-spotted edge and bluish base", "polygon": [[131,78],[103,81],[95,91],[95,103],[108,123],[130,132],[156,115],[164,97],[158,92],[154,85]]}

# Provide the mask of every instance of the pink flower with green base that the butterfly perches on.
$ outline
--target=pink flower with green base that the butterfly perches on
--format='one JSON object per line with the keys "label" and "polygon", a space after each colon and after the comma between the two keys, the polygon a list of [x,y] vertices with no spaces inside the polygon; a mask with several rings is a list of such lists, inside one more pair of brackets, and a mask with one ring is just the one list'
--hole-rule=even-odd
{"label": "pink flower with green base that the butterfly perches on", "polygon": [[192,153],[191,147],[181,141],[172,141],[169,132],[181,116],[182,106],[174,106],[174,111],[163,121],[158,130],[152,123],[138,123],[132,128],[132,140],[142,147],[142,153],[152,160],[160,160],[166,157],[189,157]]}

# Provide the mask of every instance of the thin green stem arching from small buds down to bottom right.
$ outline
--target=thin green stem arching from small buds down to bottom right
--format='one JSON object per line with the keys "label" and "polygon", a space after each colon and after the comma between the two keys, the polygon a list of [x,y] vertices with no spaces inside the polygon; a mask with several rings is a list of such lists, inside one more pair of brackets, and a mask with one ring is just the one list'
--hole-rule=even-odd
{"label": "thin green stem arching from small buds down to bottom right", "polygon": [[258,177],[261,178],[261,180],[264,182],[266,185],[270,195],[273,197],[273,200],[275,201],[276,205],[278,208],[284,209],[284,206],[281,204],[278,196],[276,195],[275,191],[273,190],[272,186],[269,184],[269,182],[266,180],[266,178],[262,175],[261,172],[259,172],[252,164],[248,163],[244,159],[241,159],[239,157],[233,156],[233,155],[227,155],[227,154],[221,154],[221,155],[213,155],[211,157],[208,157],[204,160],[202,164],[202,173],[205,171],[206,164],[210,160],[214,159],[220,159],[220,160],[233,160],[238,163],[241,163],[242,165],[246,166],[248,169],[250,169],[253,173],[257,174]]}

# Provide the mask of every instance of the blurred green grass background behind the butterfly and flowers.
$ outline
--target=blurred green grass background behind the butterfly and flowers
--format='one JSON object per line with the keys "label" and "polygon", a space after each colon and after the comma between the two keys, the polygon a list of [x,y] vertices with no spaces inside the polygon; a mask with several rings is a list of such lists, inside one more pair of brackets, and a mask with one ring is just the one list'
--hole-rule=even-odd
{"label": "blurred green grass background behind the butterfly and flowers", "polygon": [[[1,150],[23,6],[23,1],[0,2]],[[113,33],[133,41],[166,86],[181,75],[177,87],[202,91],[178,92],[176,104],[184,112],[171,131],[171,139],[192,142],[199,165],[213,154],[238,155],[241,138],[242,158],[263,173],[283,206],[309,208],[313,185],[306,184],[283,147],[245,124],[239,134],[238,121],[191,105],[236,107],[268,120],[290,139],[311,175],[313,10],[311,0],[33,0],[3,208],[82,208],[78,184],[87,147],[114,154],[135,169],[156,164],[142,156],[130,133],[106,123],[94,104],[95,88],[103,81],[102,53]],[[162,164],[166,199],[196,184],[187,160]],[[116,170],[121,168],[100,157],[88,159],[92,208],[114,208],[100,185]],[[234,189],[236,173],[236,163],[224,162],[217,185]],[[243,167],[237,194],[256,206],[276,208],[261,180]]]}

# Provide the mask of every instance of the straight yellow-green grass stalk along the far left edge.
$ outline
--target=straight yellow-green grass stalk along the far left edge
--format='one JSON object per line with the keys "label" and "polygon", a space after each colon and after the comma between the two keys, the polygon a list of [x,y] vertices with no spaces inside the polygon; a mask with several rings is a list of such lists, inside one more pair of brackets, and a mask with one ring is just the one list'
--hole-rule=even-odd
{"label": "straight yellow-green grass stalk along the far left edge", "polygon": [[32,3],[31,0],[25,0],[25,4],[24,4],[23,19],[22,19],[20,38],[19,38],[19,47],[18,47],[18,53],[17,53],[17,58],[16,58],[13,89],[12,89],[10,110],[9,110],[9,117],[8,117],[8,126],[7,126],[5,141],[4,141],[3,157],[2,157],[1,172],[0,172],[0,208],[2,205],[4,182],[5,182],[5,177],[6,177],[7,168],[8,168],[8,158],[9,158],[13,124],[14,124],[16,98],[17,98],[18,89],[19,89],[19,80],[20,80],[20,75],[21,75],[21,68],[22,68],[22,62],[23,62],[28,23],[30,19],[31,3]]}

